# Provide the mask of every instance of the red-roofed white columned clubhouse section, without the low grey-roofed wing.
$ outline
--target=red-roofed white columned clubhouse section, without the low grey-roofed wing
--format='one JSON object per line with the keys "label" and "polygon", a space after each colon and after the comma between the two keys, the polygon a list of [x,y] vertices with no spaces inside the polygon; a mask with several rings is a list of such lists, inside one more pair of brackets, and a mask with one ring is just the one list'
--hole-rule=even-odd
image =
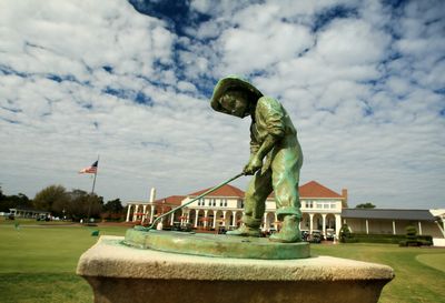
{"label": "red-roofed white columned clubhouse section, without the low grey-roofed wing", "polygon": [[[151,194],[151,202],[128,202],[127,222],[151,223],[156,216],[188,203],[207,190],[159,200],[155,200]],[[299,193],[303,212],[300,229],[309,232],[319,230],[324,234],[327,229],[332,229],[338,233],[339,228],[336,226],[342,225],[342,210],[347,205],[347,191],[343,190],[342,194],[338,194],[316,181],[312,181],[300,186]],[[225,185],[170,214],[164,224],[172,225],[174,222],[181,222],[201,230],[214,230],[220,226],[235,229],[239,226],[243,216],[244,196],[245,193],[240,189]],[[277,230],[279,229],[278,224],[271,194],[266,201],[261,229],[264,231]]]}

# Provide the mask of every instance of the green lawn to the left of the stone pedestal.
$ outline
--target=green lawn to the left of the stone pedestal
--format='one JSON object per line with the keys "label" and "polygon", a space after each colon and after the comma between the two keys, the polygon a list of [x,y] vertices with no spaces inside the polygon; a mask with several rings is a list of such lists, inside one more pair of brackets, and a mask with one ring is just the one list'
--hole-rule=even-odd
{"label": "green lawn to the left of the stone pedestal", "polygon": [[80,226],[47,222],[0,222],[0,302],[92,302],[89,284],[76,275],[80,255],[98,240],[91,232],[123,235],[127,226]]}

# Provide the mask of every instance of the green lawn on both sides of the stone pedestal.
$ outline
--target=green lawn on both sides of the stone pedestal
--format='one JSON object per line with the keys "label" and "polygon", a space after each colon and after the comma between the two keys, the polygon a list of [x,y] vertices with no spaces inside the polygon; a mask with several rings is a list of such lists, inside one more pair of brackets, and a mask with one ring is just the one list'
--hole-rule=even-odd
{"label": "green lawn on both sides of the stone pedestal", "polygon": [[[88,283],[76,275],[82,252],[100,234],[123,235],[127,226],[87,228],[44,222],[0,221],[0,302],[92,302]],[[392,244],[313,244],[313,254],[387,264],[396,277],[380,303],[445,302],[445,249],[398,248]]]}

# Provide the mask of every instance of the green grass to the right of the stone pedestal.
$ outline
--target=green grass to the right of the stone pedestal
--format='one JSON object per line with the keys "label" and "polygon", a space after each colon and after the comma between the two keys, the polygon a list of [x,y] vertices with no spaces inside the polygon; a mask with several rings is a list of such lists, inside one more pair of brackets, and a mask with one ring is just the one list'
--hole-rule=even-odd
{"label": "green grass to the right of the stone pedestal", "polygon": [[425,265],[417,255],[428,255],[431,261],[443,262],[445,249],[399,248],[394,244],[352,243],[339,245],[312,245],[318,255],[332,255],[389,265],[395,279],[388,283],[379,303],[445,302],[445,272]]}

